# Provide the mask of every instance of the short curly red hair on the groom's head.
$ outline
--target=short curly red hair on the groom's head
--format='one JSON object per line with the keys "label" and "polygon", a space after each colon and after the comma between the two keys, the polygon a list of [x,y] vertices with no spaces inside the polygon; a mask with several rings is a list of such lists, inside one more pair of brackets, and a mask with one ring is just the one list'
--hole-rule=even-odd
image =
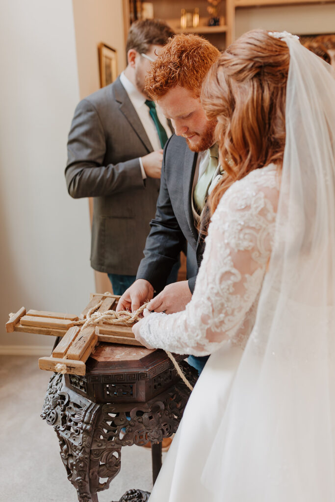
{"label": "short curly red hair on the groom's head", "polygon": [[202,82],[219,54],[216,47],[198,35],[175,35],[152,64],[146,76],[145,92],[156,100],[180,85],[199,97]]}

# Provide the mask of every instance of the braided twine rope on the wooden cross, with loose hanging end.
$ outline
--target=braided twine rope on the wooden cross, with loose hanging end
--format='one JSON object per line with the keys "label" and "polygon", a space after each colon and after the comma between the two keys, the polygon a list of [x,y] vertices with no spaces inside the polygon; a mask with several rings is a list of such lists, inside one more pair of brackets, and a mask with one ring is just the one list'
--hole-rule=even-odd
{"label": "braided twine rope on the wooden cross, with loose hanging end", "polygon": [[[140,316],[143,313],[144,309],[147,307],[149,302],[144,303],[139,309],[135,310],[134,312],[130,312],[129,310],[120,310],[120,312],[116,312],[115,310],[106,310],[105,312],[94,312],[96,309],[100,307],[102,304],[102,299],[99,301],[97,305],[92,307],[86,314],[86,319],[81,319],[79,321],[75,321],[74,324],[76,325],[82,325],[81,329],[86,328],[87,326],[99,326],[102,322],[106,324],[114,324],[114,325],[130,325],[134,324],[135,322],[140,320]],[[184,382],[184,384],[191,390],[193,391],[193,387],[187,380],[185,374],[183,373],[181,367],[179,366],[178,362],[176,359],[173,357],[171,352],[168,350],[165,350],[166,354],[168,357],[171,359],[173,362],[173,365],[180,376],[181,380]],[[57,364],[57,366],[61,366],[61,364]],[[58,369],[56,369],[58,371]],[[60,371],[62,372],[62,371]]]}

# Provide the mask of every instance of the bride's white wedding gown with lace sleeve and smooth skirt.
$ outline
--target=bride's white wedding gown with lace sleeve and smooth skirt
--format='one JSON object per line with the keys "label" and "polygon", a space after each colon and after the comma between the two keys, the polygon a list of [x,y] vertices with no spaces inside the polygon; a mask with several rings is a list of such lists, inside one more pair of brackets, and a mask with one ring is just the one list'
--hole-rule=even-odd
{"label": "bride's white wedding gown with lace sleeve and smooth skirt", "polygon": [[274,165],[234,183],[211,218],[203,261],[186,309],[171,315],[153,313],[141,321],[141,335],[154,347],[179,354],[211,354],[150,502],[217,500],[201,476],[255,323],[273,243],[279,185]]}

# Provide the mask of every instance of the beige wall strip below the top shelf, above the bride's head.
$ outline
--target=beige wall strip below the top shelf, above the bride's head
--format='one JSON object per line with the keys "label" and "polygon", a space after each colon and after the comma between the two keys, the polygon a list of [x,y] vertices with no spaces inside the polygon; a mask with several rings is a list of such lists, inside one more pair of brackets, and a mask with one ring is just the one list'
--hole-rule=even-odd
{"label": "beige wall strip below the top shelf, above the bride's head", "polygon": [[335,33],[335,4],[237,9],[236,38],[255,28],[300,35]]}

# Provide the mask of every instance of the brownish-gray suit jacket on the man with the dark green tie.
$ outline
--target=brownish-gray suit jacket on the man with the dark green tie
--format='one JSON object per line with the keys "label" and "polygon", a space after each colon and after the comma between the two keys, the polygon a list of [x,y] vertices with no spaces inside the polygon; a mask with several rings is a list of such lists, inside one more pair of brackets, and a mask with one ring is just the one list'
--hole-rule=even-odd
{"label": "brownish-gray suit jacket on the man with the dark green tie", "polygon": [[136,274],[159,191],[159,180],[142,179],[139,157],[152,151],[119,78],[78,104],[65,177],[72,197],[94,197],[91,266],[95,270]]}

